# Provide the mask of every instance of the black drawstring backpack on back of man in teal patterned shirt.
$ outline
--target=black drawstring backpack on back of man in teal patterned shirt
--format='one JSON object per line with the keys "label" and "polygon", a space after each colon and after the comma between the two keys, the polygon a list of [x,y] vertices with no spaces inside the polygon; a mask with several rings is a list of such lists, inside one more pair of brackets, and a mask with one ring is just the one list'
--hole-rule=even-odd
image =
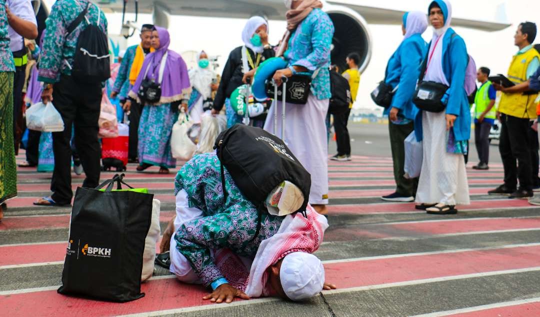
{"label": "black drawstring backpack on back of man in teal patterned shirt", "polygon": [[[86,8],[71,22],[66,31],[70,35],[81,22],[88,12],[90,2]],[[98,24],[99,17],[98,12]],[[79,34],[77,39],[77,48],[73,65],[71,66],[71,75],[78,82],[98,83],[104,82],[111,77],[109,53],[109,40],[107,35],[99,28],[99,25],[90,24]]]}

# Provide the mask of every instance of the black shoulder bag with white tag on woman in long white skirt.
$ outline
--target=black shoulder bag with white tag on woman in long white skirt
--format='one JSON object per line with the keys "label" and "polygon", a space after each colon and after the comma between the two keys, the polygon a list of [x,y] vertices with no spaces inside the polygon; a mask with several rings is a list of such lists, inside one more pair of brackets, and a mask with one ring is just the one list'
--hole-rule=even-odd
{"label": "black shoulder bag with white tag on woman in long white skirt", "polygon": [[[452,37],[454,36],[455,35],[452,35]],[[437,43],[438,39],[437,42],[435,42],[435,48],[433,51],[435,51]],[[431,56],[433,56],[433,52],[431,53]],[[442,98],[450,87],[442,83],[424,81],[427,68],[428,56],[424,58],[422,67],[420,68],[420,78],[414,93],[413,103],[416,104],[416,107],[418,107],[420,110],[429,111],[431,113],[440,113],[446,109],[446,104],[442,102]]]}

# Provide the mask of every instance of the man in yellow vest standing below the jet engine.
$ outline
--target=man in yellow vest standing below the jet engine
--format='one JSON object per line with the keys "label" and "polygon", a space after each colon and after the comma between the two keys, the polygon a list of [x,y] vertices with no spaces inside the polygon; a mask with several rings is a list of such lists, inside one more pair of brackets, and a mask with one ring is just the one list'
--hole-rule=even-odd
{"label": "man in yellow vest standing below the jet engine", "polygon": [[343,77],[349,81],[351,102],[349,110],[340,114],[334,114],[334,129],[336,131],[336,143],[338,143],[338,154],[332,156],[330,160],[333,161],[350,161],[350,136],[347,129],[347,123],[349,121],[350,109],[353,108],[354,101],[356,100],[356,94],[358,93],[358,87],[360,85],[360,70],[358,64],[360,63],[360,55],[353,52],[347,56],[347,65],[349,69],[343,72]]}

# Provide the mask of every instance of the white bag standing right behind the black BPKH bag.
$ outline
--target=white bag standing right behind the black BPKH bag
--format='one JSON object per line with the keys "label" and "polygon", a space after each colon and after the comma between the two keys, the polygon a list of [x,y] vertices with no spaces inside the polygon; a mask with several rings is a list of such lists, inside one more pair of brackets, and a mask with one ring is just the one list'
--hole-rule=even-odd
{"label": "white bag standing right behind the black BPKH bag", "polygon": [[161,235],[161,228],[159,227],[159,213],[161,210],[161,202],[154,199],[152,202],[152,222],[150,223],[150,229],[146,234],[144,241],[144,253],[143,253],[143,273],[140,280],[142,282],[150,279],[154,273],[154,261],[156,261],[156,243]]}

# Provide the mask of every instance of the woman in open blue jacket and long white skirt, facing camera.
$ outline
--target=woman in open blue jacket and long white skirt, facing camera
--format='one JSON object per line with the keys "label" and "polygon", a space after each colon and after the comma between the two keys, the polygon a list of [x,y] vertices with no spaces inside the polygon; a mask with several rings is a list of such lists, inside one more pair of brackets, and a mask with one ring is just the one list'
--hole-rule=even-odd
{"label": "woman in open blue jacket and long white skirt, facing camera", "polygon": [[470,138],[471,116],[465,92],[465,71],[469,62],[461,36],[450,28],[452,7],[448,0],[429,5],[433,39],[424,63],[423,81],[449,88],[442,98],[440,113],[419,111],[415,133],[423,141],[423,162],[416,202],[429,214],[456,214],[456,204],[470,204],[465,159]]}

